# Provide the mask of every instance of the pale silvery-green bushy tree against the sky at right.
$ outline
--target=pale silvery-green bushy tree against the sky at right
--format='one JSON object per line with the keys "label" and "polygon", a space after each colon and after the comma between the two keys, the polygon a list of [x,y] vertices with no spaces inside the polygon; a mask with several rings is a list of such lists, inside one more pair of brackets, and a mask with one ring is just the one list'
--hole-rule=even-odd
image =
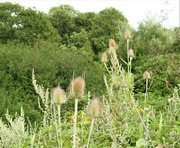
{"label": "pale silvery-green bushy tree against the sky at right", "polygon": [[139,24],[133,39],[137,56],[171,52],[174,42],[172,31],[164,28],[153,18],[148,18]]}

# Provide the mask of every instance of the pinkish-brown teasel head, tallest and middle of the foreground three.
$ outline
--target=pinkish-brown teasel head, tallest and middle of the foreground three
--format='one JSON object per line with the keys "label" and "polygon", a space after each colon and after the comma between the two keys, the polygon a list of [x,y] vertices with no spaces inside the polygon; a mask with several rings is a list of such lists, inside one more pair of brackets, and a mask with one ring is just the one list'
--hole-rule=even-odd
{"label": "pinkish-brown teasel head, tallest and middle of the foreground three", "polygon": [[83,98],[85,89],[85,81],[81,77],[77,77],[71,82],[70,96],[72,98]]}

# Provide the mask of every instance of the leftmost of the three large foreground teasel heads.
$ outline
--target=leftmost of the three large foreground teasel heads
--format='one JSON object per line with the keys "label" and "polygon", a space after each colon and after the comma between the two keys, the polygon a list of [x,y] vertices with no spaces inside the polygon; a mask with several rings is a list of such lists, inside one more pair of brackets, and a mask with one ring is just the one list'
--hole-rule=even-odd
{"label": "leftmost of the three large foreground teasel heads", "polygon": [[51,102],[53,104],[63,104],[67,101],[66,95],[63,89],[59,86],[55,87],[51,91]]}

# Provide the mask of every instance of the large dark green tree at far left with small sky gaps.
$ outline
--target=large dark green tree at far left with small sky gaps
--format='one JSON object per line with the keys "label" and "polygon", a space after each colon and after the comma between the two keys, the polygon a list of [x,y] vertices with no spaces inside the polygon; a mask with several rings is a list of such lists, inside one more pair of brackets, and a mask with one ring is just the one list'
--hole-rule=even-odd
{"label": "large dark green tree at far left with small sky gaps", "polygon": [[0,3],[0,42],[26,43],[33,45],[37,39],[60,42],[46,14],[12,3]]}

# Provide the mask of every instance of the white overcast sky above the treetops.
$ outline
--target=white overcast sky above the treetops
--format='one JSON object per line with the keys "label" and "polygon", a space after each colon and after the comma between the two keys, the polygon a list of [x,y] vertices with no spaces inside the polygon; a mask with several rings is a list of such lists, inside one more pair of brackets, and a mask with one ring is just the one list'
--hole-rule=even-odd
{"label": "white overcast sky above the treetops", "polygon": [[[25,7],[36,7],[48,13],[51,7],[69,4],[80,12],[99,12],[108,7],[121,11],[129,20],[129,24],[137,28],[138,22],[151,12],[157,20],[167,16],[163,25],[168,28],[180,26],[179,0],[0,0],[0,2],[19,3]],[[168,14],[168,15],[166,15]]]}

